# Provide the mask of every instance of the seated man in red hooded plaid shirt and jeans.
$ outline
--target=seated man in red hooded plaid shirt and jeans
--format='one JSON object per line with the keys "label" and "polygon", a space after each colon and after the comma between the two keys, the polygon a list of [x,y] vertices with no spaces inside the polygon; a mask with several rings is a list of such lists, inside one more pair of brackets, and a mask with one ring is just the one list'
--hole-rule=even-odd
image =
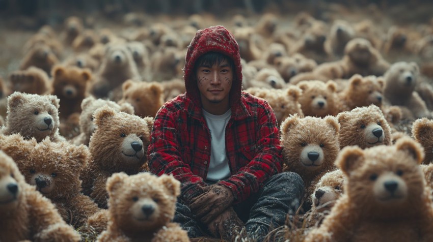
{"label": "seated man in red hooded plaid shirt and jeans", "polygon": [[264,236],[299,206],[302,178],[282,170],[273,110],[241,92],[239,46],[223,26],[197,32],[184,67],[186,93],[155,117],[148,148],[152,173],[181,182],[174,222],[190,237],[235,230]]}

